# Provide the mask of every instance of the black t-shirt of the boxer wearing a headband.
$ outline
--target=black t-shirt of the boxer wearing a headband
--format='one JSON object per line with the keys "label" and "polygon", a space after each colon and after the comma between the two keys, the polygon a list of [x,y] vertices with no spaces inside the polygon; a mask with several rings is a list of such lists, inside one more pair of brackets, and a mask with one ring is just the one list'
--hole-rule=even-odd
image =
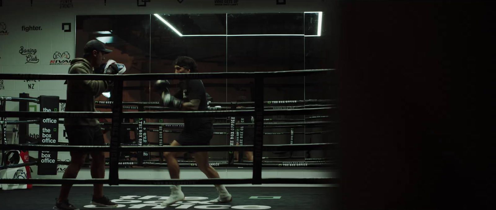
{"label": "black t-shirt of the boxer wearing a headband", "polygon": [[[205,96],[205,86],[201,80],[184,80],[179,86],[181,90],[176,93],[175,97],[189,102],[193,99],[199,99],[200,105],[198,111],[207,110],[207,97]],[[212,129],[212,118],[184,118],[184,132],[197,132],[203,129]]]}

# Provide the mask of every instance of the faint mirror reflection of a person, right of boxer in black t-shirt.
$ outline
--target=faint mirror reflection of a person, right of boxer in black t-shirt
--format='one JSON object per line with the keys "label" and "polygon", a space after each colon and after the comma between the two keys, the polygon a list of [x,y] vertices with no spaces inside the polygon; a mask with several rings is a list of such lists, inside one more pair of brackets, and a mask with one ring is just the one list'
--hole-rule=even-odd
{"label": "faint mirror reflection of a person, right of boxer in black t-shirt", "polygon": [[[236,100],[237,102],[247,102],[247,97],[244,95],[241,95],[238,97]],[[238,107],[243,107],[243,106],[238,106]],[[254,123],[255,120],[253,119],[253,116],[240,116],[236,117],[237,122],[236,123]],[[237,126],[238,127],[238,126]],[[252,126],[239,126],[240,131],[239,131],[239,141],[243,141],[243,145],[253,145],[253,135],[254,135],[254,129]],[[242,130],[243,129],[243,130]],[[242,135],[243,134],[243,137]],[[236,142],[236,145],[240,145],[240,142]],[[245,151],[245,156],[247,157],[248,161],[253,161],[253,151]],[[236,161],[238,161],[238,151],[234,152],[234,158]]]}

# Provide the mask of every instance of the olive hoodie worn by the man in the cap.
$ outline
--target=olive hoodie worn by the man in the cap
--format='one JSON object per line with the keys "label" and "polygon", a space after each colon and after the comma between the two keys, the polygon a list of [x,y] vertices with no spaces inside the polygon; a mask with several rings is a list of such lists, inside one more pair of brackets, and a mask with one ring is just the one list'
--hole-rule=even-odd
{"label": "olive hoodie worn by the man in the cap", "polygon": [[[84,58],[70,61],[69,74],[94,74],[90,62]],[[95,97],[112,89],[111,81],[68,80],[66,112],[95,112]],[[95,118],[65,118],[64,126],[96,126]]]}

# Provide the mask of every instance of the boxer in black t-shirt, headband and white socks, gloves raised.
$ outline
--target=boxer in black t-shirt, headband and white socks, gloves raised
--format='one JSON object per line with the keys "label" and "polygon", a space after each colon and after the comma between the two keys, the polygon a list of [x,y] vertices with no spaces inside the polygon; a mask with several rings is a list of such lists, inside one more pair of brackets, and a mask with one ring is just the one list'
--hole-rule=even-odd
{"label": "boxer in black t-shirt, headband and white socks, gloves raised", "polygon": [[[174,62],[176,74],[187,74],[197,72],[196,62],[186,56],[180,56]],[[205,86],[201,80],[182,80],[181,90],[172,95],[168,89],[169,82],[159,80],[154,88],[161,92],[161,103],[166,107],[176,108],[182,111],[205,111],[207,110],[207,98]],[[209,145],[213,137],[214,128],[212,118],[184,118],[185,127],[178,140],[174,140],[171,146],[193,146]],[[173,179],[179,179],[179,165],[176,157],[182,156],[184,152],[165,152],[169,175]],[[220,178],[219,173],[208,163],[208,152],[194,152],[194,161],[198,168],[208,178]],[[224,185],[215,185],[219,197],[209,203],[226,203],[232,201],[232,196]],[[169,206],[185,198],[180,185],[171,186],[171,195],[161,206]]]}

